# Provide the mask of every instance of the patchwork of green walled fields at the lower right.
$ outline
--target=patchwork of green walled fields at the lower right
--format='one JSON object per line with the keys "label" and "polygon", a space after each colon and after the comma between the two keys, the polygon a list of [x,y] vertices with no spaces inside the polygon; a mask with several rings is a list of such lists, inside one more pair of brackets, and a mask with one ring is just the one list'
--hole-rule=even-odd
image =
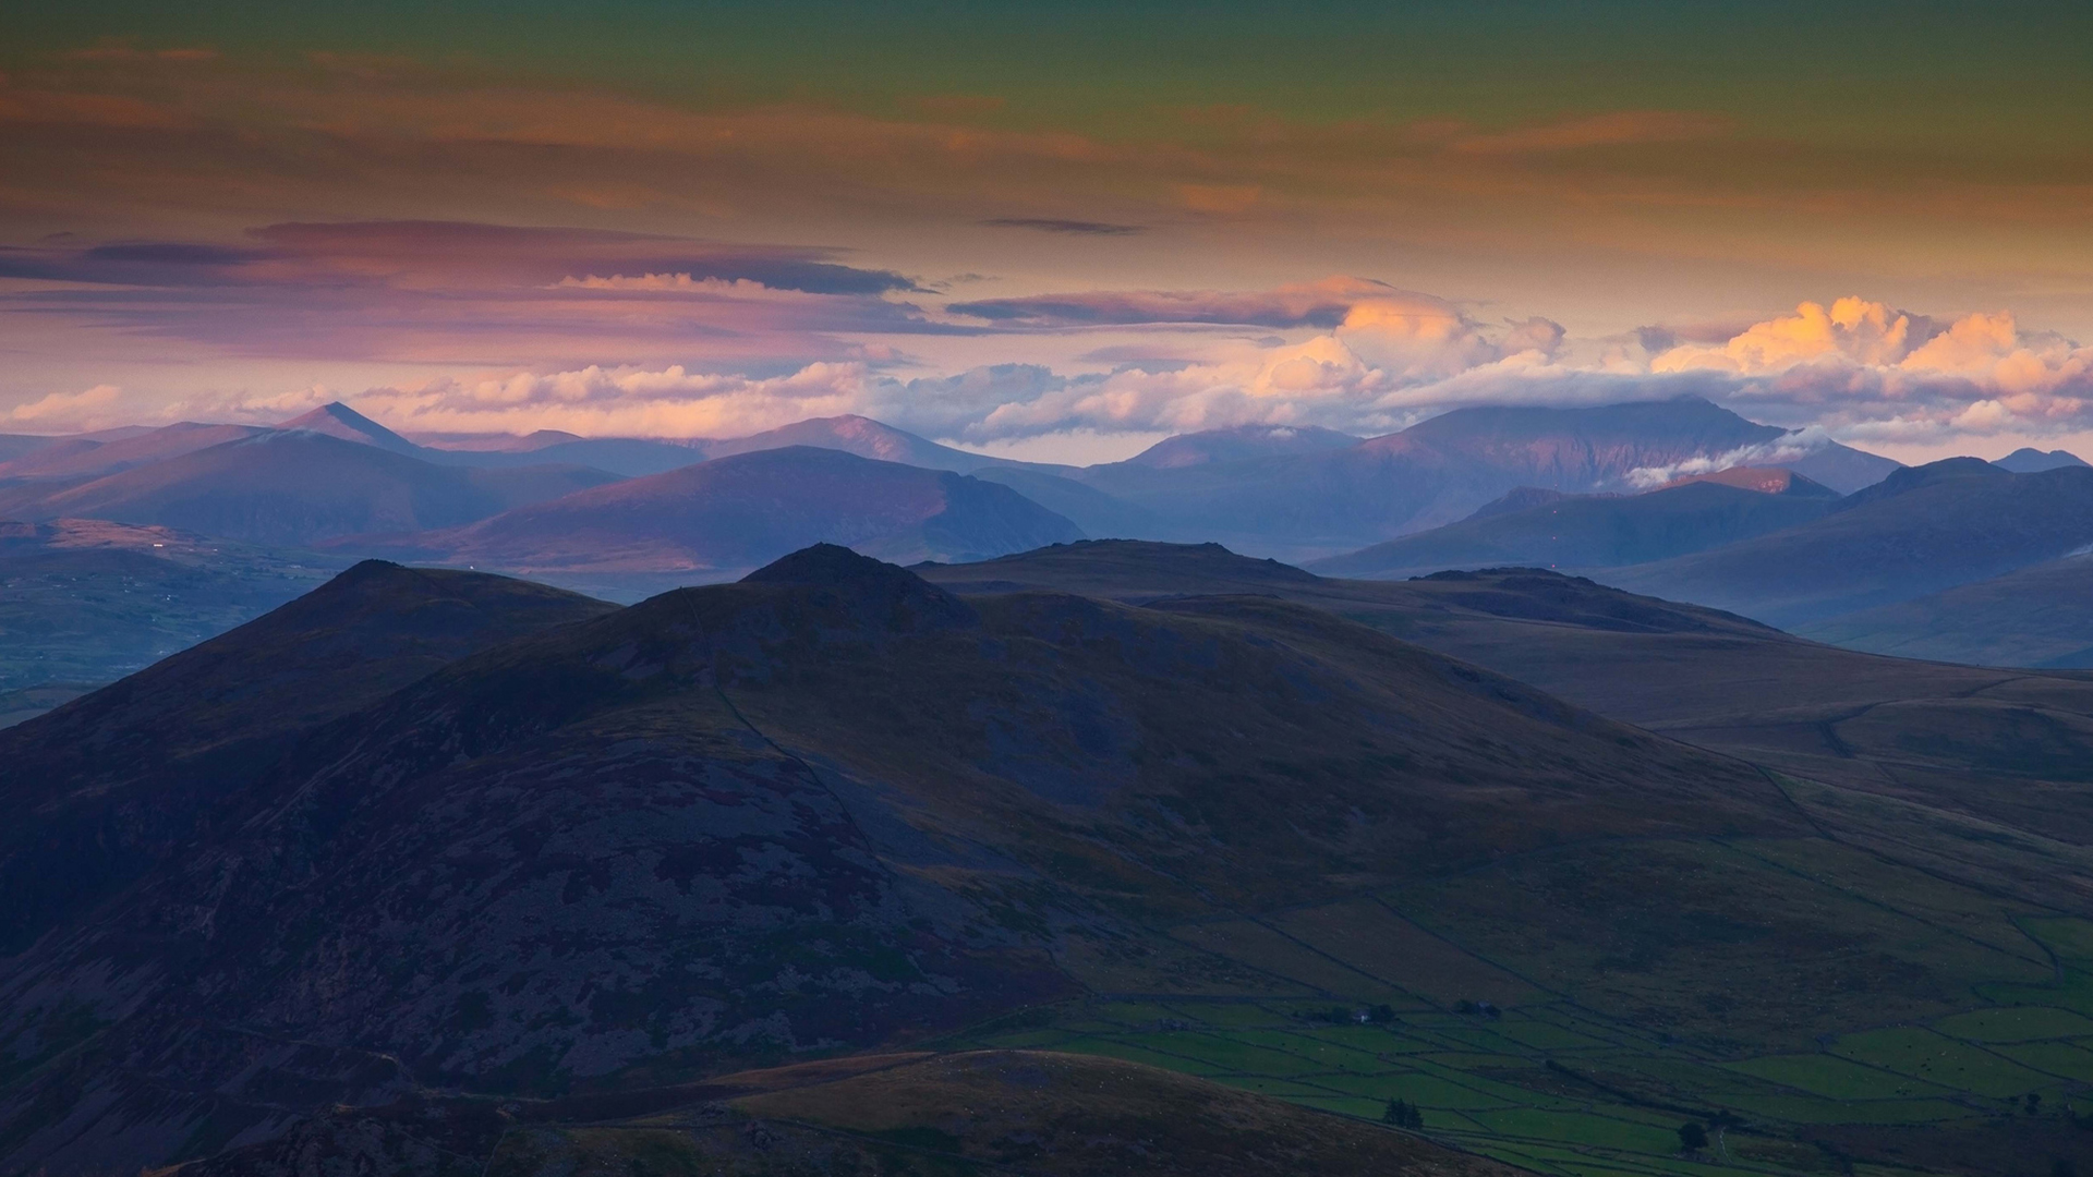
{"label": "patchwork of green walled fields at the lower right", "polygon": [[[1919,1169],[1848,1150],[1911,1133],[2093,1143],[2093,1116],[2072,1118],[2093,1112],[2093,1022],[2072,1009],[2093,921],[1829,844],[1639,854],[1670,911],[1576,892],[1545,861],[1492,867],[1522,886],[1430,884],[1174,934],[1319,999],[1103,993],[1046,1028],[952,1045],[1132,1058],[1344,1116],[1402,1100],[1436,1139],[1555,1175],[1892,1175]],[[1492,917],[1503,896],[1566,911]],[[1850,945],[1819,945],[1831,970],[1798,978],[1785,947],[1825,940],[1825,924]],[[1708,1148],[1681,1150],[1687,1120]]]}

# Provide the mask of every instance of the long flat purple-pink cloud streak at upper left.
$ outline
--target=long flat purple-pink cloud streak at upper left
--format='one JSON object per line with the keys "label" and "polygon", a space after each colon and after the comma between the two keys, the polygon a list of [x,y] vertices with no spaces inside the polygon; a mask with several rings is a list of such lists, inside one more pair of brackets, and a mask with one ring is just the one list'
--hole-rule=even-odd
{"label": "long flat purple-pink cloud streak at upper left", "polygon": [[965,333],[833,249],[471,222],[291,222],[239,243],[0,247],[0,310],[243,356],[588,364],[871,358],[837,335]]}

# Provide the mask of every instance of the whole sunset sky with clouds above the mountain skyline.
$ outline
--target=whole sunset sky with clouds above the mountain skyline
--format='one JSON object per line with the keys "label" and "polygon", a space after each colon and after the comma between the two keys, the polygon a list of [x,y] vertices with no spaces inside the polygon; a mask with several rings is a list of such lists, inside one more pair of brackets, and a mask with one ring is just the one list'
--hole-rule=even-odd
{"label": "whole sunset sky with clouds above the mountain skyline", "polygon": [[1103,461],[1693,394],[2093,457],[2087,4],[40,8],[0,431]]}

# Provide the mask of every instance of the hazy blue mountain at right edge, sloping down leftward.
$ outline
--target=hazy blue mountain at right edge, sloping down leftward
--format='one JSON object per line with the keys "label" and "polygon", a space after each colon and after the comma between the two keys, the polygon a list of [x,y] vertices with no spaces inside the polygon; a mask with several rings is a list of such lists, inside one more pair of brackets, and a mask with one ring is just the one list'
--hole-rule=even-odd
{"label": "hazy blue mountain at right edge, sloping down leftward", "polygon": [[1616,568],[1635,593],[1802,626],[1988,580],[2093,545],[2093,469],[2009,473],[1980,459],[1900,469],[1821,519]]}

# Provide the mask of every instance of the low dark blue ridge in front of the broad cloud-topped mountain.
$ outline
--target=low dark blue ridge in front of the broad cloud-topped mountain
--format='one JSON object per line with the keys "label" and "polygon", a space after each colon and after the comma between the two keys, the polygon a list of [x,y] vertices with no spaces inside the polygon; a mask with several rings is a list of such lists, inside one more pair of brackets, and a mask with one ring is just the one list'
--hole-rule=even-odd
{"label": "low dark blue ridge in front of the broad cloud-topped mountain", "polygon": [[[1706,551],[1817,519],[1838,496],[1779,471],[1752,471],[1739,488],[1716,478],[1628,496],[1563,496],[1517,511],[1478,513],[1459,524],[1402,536],[1308,563],[1327,576],[1415,576],[1444,568],[1534,565],[1616,568]],[[1785,490],[1758,490],[1777,482]],[[1484,507],[1490,511],[1490,507]]]}

